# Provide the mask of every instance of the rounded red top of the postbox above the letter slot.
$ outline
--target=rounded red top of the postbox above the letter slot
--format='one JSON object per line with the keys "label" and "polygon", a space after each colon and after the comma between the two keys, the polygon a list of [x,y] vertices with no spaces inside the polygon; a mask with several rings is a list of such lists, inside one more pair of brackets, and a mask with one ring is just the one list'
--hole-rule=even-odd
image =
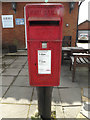
{"label": "rounded red top of the postbox above the letter slot", "polygon": [[63,16],[64,6],[60,3],[27,4],[28,20],[60,20]]}

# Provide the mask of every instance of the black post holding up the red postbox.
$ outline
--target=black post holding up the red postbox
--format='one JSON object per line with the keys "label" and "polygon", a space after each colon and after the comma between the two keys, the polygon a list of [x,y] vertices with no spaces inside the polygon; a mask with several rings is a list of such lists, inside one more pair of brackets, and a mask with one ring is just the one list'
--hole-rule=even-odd
{"label": "black post holding up the red postbox", "polygon": [[51,99],[53,87],[37,87],[38,111],[43,120],[51,120]]}

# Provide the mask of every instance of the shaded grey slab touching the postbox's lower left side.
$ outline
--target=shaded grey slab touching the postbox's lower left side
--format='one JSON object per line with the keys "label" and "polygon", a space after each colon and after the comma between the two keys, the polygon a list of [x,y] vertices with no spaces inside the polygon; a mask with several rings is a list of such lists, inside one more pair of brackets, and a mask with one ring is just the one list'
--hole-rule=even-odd
{"label": "shaded grey slab touching the postbox's lower left side", "polygon": [[18,76],[14,81],[15,86],[30,86],[28,76]]}

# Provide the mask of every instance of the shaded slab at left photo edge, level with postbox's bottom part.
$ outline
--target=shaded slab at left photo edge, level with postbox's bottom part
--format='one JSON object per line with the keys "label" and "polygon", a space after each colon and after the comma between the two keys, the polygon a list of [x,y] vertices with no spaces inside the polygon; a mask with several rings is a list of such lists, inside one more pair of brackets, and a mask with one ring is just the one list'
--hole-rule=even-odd
{"label": "shaded slab at left photo edge, level with postbox's bottom part", "polygon": [[13,82],[13,80],[13,76],[2,76],[2,79],[0,79],[0,85],[9,86]]}

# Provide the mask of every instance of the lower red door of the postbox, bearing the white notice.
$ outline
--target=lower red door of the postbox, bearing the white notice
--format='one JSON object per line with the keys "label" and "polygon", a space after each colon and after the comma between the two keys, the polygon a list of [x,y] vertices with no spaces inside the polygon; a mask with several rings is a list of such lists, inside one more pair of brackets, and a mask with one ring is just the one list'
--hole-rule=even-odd
{"label": "lower red door of the postbox, bearing the white notice", "polygon": [[[30,56],[28,57],[30,84],[33,86],[57,86],[60,80],[61,42],[48,42],[47,49],[42,49],[41,44],[42,42],[37,41],[29,42],[28,44],[30,48],[28,51],[28,56]],[[51,61],[48,64],[48,68],[51,66],[49,69],[51,71],[46,72],[46,69],[44,69],[44,72],[40,72],[38,69],[39,51],[42,51],[42,53],[47,52],[47,55],[49,54],[48,59]]]}

